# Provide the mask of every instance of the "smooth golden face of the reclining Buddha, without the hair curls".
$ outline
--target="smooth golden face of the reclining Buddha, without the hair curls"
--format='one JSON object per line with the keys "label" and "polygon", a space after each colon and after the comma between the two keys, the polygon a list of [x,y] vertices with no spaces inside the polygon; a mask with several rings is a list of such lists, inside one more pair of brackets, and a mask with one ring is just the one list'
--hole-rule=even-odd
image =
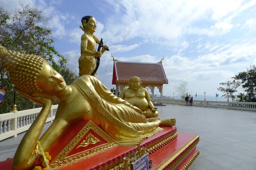
{"label": "smooth golden face of the reclining Buddha, without the hair curls", "polygon": [[36,84],[42,89],[42,92],[47,94],[58,94],[66,88],[62,75],[46,62],[36,76]]}

